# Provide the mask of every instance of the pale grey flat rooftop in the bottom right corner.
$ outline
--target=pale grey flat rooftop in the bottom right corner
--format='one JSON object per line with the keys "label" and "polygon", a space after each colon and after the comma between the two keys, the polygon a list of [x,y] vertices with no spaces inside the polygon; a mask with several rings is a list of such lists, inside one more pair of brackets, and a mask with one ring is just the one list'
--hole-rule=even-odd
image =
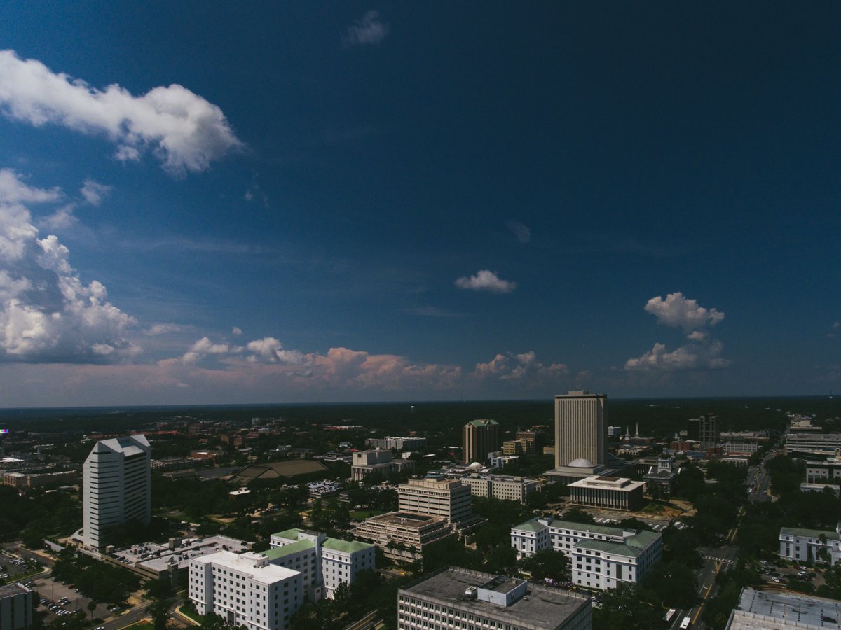
{"label": "pale grey flat rooftop in the bottom right corner", "polygon": [[746,588],[728,627],[732,630],[841,628],[841,601]]}

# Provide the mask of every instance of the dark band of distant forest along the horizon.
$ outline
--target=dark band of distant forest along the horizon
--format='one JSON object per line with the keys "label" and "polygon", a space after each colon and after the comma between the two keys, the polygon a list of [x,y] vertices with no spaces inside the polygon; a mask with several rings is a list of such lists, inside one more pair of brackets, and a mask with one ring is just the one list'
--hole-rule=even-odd
{"label": "dark band of distant forest along the horizon", "polygon": [[[841,400],[829,396],[785,398],[610,399],[609,423],[633,433],[639,423],[645,437],[670,437],[685,421],[703,413],[719,417],[718,430],[785,428],[785,412],[810,414],[821,423],[841,416]],[[124,407],[0,410],[0,428],[43,433],[127,433],[151,423],[194,420],[230,421],[243,427],[251,418],[283,418],[300,430],[313,425],[360,424],[382,435],[415,431],[431,445],[461,443],[461,426],[476,418],[494,418],[505,434],[518,428],[553,424],[553,400],[389,402],[357,404],[238,405],[205,407]],[[834,423],[827,422],[829,427]]]}

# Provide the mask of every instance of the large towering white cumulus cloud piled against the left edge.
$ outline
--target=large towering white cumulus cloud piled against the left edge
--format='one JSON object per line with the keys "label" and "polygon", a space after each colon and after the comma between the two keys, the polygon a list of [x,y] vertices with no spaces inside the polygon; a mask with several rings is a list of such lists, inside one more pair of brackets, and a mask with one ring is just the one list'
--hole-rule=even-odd
{"label": "large towering white cumulus cloud piled against the left edge", "polygon": [[0,360],[98,363],[130,358],[134,318],[108,302],[98,281],[82,283],[55,235],[39,238],[29,206],[61,200],[0,169]]}

